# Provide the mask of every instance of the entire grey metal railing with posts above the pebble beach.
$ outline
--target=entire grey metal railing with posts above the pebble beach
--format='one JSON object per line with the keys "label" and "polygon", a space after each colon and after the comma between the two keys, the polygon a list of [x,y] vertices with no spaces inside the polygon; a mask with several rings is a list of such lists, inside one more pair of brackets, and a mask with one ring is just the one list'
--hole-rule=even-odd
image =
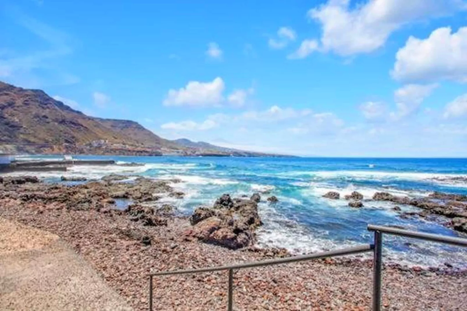
{"label": "entire grey metal railing with posts above the pebble beach", "polygon": [[228,282],[228,302],[227,310],[233,310],[233,270],[240,270],[246,268],[263,267],[276,264],[290,263],[290,262],[303,262],[312,259],[327,258],[334,256],[343,256],[350,254],[365,253],[373,251],[373,310],[381,310],[381,270],[382,270],[382,235],[388,233],[392,235],[399,235],[409,238],[429,240],[433,242],[440,242],[445,244],[451,244],[456,246],[467,247],[467,239],[455,238],[449,236],[443,236],[438,234],[429,234],[417,231],[408,231],[388,226],[374,226],[368,225],[368,230],[374,232],[374,244],[364,244],[361,246],[347,247],[339,250],[333,250],[329,252],[320,252],[308,255],[292,256],[286,258],[278,258],[272,260],[265,260],[259,262],[247,262],[240,264],[233,264],[228,266],[202,268],[202,269],[187,269],[187,270],[175,270],[175,271],[164,271],[149,274],[149,311],[152,311],[153,307],[153,277],[154,276],[168,276],[168,275],[180,275],[180,274],[191,274],[201,272],[212,272],[212,271],[229,271],[229,282]]}

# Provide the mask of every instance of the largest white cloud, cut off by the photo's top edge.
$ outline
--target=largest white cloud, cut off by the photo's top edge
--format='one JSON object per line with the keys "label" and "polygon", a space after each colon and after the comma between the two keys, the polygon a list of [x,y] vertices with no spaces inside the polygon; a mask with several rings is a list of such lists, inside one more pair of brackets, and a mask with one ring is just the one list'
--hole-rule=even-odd
{"label": "largest white cloud, cut off by the photo's top edge", "polygon": [[462,0],[370,0],[350,7],[350,0],[328,0],[308,16],[322,26],[324,51],[341,56],[380,48],[403,25],[452,14],[466,8]]}

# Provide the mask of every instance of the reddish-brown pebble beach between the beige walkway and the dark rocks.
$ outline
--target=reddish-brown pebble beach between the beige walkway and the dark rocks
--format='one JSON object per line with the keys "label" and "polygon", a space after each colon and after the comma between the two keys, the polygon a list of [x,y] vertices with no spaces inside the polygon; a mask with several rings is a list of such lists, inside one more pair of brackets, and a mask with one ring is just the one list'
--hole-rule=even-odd
{"label": "reddish-brown pebble beach between the beige walkway and the dark rocks", "polygon": [[[135,310],[147,310],[149,271],[218,266],[270,258],[185,241],[187,219],[142,226],[119,212],[73,211],[3,199],[0,216],[57,234],[99,271]],[[143,236],[151,238],[145,246]],[[235,310],[369,310],[371,262],[320,260],[235,272]],[[155,310],[225,310],[227,272],[154,278]],[[466,273],[385,267],[384,310],[465,310]]]}

